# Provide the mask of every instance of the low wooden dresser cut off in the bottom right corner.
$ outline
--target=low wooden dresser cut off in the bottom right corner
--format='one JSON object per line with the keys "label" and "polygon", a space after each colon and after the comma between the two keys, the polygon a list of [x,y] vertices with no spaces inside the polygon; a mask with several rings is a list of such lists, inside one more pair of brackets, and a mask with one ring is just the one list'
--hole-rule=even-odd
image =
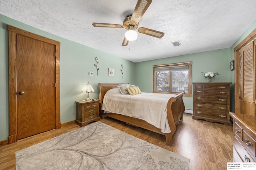
{"label": "low wooden dresser cut off in the bottom right corner", "polygon": [[234,162],[256,162],[256,116],[231,113]]}

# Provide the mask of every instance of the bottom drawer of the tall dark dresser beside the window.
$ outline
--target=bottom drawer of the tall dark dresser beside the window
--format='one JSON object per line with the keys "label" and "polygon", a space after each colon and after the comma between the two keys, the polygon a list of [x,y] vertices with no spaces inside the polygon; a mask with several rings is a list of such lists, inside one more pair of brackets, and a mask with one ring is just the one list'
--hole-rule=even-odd
{"label": "bottom drawer of the tall dark dresser beside the window", "polygon": [[204,109],[195,109],[195,112],[193,113],[195,116],[200,117],[207,117],[211,119],[218,119],[218,120],[227,120],[227,112],[219,112],[219,111],[206,111]]}

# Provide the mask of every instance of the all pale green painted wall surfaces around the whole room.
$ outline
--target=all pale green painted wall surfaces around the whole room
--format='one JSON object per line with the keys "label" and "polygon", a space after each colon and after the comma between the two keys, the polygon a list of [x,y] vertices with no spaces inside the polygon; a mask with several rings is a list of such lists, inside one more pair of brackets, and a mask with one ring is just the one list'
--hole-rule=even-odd
{"label": "all pale green painted wall surfaces around the whole room", "polygon": [[[130,83],[139,86],[142,92],[152,92],[153,72],[152,66],[192,61],[192,82],[206,82],[201,72],[216,72],[213,82],[232,82],[231,85],[231,111],[234,111],[234,71],[230,71],[230,61],[234,60],[233,49],[249,33],[256,28],[254,22],[238,41],[228,49],[168,57],[152,61],[133,63],[119,56],[113,56],[96,49],[63,39],[24,23],[12,20],[0,14],[0,141],[8,139],[9,135],[9,109],[8,109],[8,31],[7,25],[12,25],[26,31],[60,41],[60,121],[66,123],[76,119],[74,101],[83,100],[86,94],[82,88],[89,81],[95,92],[90,98],[98,98],[98,83]],[[113,49],[114,50],[114,49]],[[94,57],[100,59],[98,64],[99,76],[96,73]],[[124,65],[124,78],[120,65]],[[108,76],[108,68],[115,69],[115,76]],[[88,72],[94,72],[89,76]],[[136,75],[136,76],[134,76]],[[193,109],[193,99],[184,97],[186,109]]]}

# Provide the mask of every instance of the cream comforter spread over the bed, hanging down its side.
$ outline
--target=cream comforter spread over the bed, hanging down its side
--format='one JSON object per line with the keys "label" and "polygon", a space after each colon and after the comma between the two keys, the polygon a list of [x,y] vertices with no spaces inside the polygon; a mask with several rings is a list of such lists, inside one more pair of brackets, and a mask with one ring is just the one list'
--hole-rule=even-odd
{"label": "cream comforter spread over the bed, hanging down its side", "polygon": [[102,110],[142,119],[161,129],[162,133],[170,133],[167,120],[168,100],[175,94],[145,93],[131,96],[121,94],[118,88],[106,92]]}

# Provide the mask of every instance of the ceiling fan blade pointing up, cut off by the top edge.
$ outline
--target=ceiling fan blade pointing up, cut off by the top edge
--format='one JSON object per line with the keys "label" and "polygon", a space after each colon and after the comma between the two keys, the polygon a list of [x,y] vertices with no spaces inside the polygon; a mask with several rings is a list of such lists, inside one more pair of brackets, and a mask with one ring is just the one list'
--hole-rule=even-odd
{"label": "ceiling fan blade pointing up, cut off by the top edge", "polygon": [[142,18],[143,14],[148,9],[148,6],[151,4],[152,0],[138,0],[135,9],[132,14],[132,21],[138,22]]}

